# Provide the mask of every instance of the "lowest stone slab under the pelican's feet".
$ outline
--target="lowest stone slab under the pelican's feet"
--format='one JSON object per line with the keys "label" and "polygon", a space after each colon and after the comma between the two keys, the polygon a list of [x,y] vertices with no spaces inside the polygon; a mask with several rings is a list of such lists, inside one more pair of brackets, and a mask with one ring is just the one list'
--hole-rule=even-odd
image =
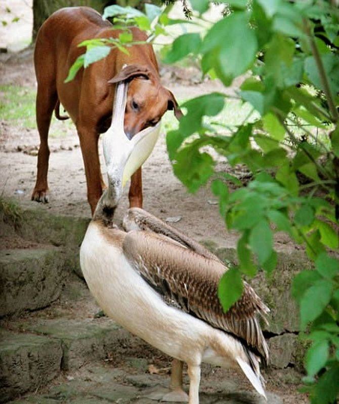
{"label": "lowest stone slab under the pelican's feet", "polygon": [[[203,366],[204,369],[204,366]],[[78,373],[67,373],[38,394],[28,394],[11,401],[11,404],[155,404],[150,394],[154,391],[167,392],[170,376],[151,375],[129,367],[113,367],[110,363],[91,363]],[[218,370],[218,376],[202,372],[200,383],[200,404],[282,404],[277,394],[267,392],[267,401],[259,396],[242,376]],[[244,390],[248,388],[249,391]],[[185,377],[188,391],[188,378]],[[289,401],[292,402],[292,401]],[[301,402],[301,401],[300,401]],[[302,401],[305,402],[304,400]]]}

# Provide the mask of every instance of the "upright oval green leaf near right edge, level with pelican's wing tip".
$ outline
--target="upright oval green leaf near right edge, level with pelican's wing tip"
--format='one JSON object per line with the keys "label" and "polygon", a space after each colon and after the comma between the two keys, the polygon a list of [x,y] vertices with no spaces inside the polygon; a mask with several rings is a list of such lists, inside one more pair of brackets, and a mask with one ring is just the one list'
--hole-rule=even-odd
{"label": "upright oval green leaf near right edge, level with pelican's wing tip", "polygon": [[332,295],[332,282],[318,280],[306,290],[300,299],[301,329],[305,330],[308,323],[316,319],[326,308]]}

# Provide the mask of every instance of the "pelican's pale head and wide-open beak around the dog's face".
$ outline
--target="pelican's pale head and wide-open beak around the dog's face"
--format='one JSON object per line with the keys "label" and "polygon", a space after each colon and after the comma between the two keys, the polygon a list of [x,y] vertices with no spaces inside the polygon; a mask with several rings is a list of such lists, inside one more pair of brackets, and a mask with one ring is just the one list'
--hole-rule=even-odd
{"label": "pelican's pale head and wide-open beak around the dog's face", "polygon": [[128,83],[116,85],[112,124],[103,136],[103,149],[107,167],[108,190],[105,205],[114,208],[122,188],[151,154],[160,132],[160,122],[137,133],[130,140],[124,133],[123,121]]}

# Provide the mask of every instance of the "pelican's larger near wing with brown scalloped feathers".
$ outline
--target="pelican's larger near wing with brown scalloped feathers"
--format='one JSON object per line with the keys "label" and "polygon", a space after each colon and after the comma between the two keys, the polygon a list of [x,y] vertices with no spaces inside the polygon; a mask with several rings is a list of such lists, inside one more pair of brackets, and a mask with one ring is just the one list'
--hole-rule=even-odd
{"label": "pelican's larger near wing with brown scalloped feathers", "polygon": [[242,297],[224,313],[217,291],[227,268],[220,261],[150,231],[130,231],[122,248],[126,259],[167,302],[233,334],[268,362],[268,347],[256,314],[269,309],[244,282]]}

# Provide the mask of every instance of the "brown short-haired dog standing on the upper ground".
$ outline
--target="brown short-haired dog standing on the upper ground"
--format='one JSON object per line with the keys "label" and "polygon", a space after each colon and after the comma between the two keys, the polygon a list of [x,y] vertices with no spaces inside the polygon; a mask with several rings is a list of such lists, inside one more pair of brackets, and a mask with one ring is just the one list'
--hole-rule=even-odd
{"label": "brown short-haired dog standing on the upper ground", "polygon": [[[131,31],[133,41],[147,39],[138,28],[133,27]],[[130,47],[129,55],[114,49],[107,58],[81,69],[70,83],[64,83],[69,68],[84,52],[78,44],[85,39],[118,37],[120,32],[88,7],[61,9],[41,26],[34,52],[40,147],[32,200],[48,201],[48,132],[53,110],[57,118],[66,118],[59,114],[60,103],[79,135],[92,214],[105,186],[100,171],[98,138],[110,126],[115,88],[112,84],[131,80],[124,116],[124,131],[130,139],[142,129],[156,125],[167,109],[174,109],[177,118],[181,116],[173,94],[160,84],[151,45]],[[141,168],[132,176],[129,200],[131,207],[142,207]]]}

